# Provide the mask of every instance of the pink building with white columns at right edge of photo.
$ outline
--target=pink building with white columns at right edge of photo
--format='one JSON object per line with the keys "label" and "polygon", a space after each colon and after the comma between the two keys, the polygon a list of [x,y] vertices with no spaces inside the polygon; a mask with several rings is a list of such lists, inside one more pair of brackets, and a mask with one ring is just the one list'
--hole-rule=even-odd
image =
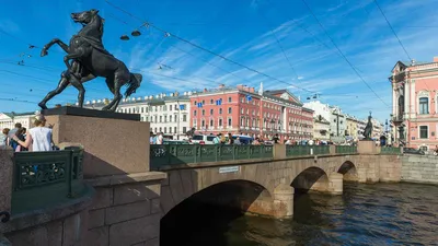
{"label": "pink building with white columns at right edge of photo", "polygon": [[396,143],[434,150],[438,145],[438,58],[396,62],[392,83],[392,134]]}

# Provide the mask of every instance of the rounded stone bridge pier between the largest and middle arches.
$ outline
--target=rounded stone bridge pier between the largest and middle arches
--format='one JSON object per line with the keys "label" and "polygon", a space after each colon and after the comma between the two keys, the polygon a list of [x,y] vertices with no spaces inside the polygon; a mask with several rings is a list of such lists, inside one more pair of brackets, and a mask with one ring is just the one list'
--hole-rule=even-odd
{"label": "rounded stone bridge pier between the largest and middle arches", "polygon": [[275,218],[291,218],[293,215],[293,187],[280,184],[274,190],[273,214]]}

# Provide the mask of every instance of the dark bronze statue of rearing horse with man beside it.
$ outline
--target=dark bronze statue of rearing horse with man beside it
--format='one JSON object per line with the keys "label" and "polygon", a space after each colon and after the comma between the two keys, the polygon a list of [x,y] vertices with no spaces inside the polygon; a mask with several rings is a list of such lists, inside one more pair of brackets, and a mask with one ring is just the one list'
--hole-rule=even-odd
{"label": "dark bronze statue of rearing horse with man beside it", "polygon": [[55,38],[44,46],[41,52],[42,57],[46,56],[48,49],[55,44],[67,52],[67,56],[64,57],[67,70],[61,73],[58,87],[49,92],[38,104],[42,109],[46,109],[46,103],[70,84],[79,91],[78,104],[79,107],[83,107],[85,89],[82,83],[96,77],[105,78],[106,85],[114,94],[113,101],[103,107],[103,110],[116,110],[123,98],[120,93],[123,85],[127,85],[126,97],[135,93],[140,86],[142,75],[130,73],[124,62],[119,61],[103,47],[104,20],[97,13],[97,10],[72,13],[71,19],[76,23],[82,24],[83,27],[77,35],[71,37],[70,45],[66,45],[60,39]]}

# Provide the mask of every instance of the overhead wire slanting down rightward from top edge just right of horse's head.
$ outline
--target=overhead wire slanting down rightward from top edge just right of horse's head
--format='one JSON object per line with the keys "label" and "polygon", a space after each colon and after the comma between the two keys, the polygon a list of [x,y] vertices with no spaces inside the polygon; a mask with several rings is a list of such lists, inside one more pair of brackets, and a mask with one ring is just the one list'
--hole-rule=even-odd
{"label": "overhead wire slanting down rightward from top edge just right of horse's head", "polygon": [[187,40],[187,39],[185,39],[185,38],[183,38],[183,37],[180,37],[180,36],[175,35],[175,34],[173,34],[173,33],[166,32],[166,31],[162,30],[161,27],[154,25],[153,23],[146,22],[146,21],[142,20],[141,17],[138,17],[138,16],[131,14],[130,12],[128,12],[128,11],[126,11],[126,10],[124,10],[124,9],[122,9],[122,8],[119,8],[119,7],[117,7],[117,5],[115,5],[114,3],[112,3],[112,2],[108,1],[108,0],[105,0],[105,2],[106,2],[107,4],[110,4],[111,7],[113,7],[113,8],[117,9],[117,10],[124,12],[125,14],[127,14],[127,15],[129,15],[129,16],[131,16],[132,19],[137,19],[137,20],[140,21],[141,23],[148,23],[149,26],[151,26],[151,27],[153,27],[153,28],[155,28],[155,30],[158,30],[158,31],[160,31],[160,32],[162,32],[162,33],[164,33],[164,34],[168,33],[168,34],[170,34],[172,37],[174,37],[174,38],[176,38],[176,39],[178,39],[178,40],[181,40],[181,42],[183,42],[183,43],[189,44],[189,45],[192,45],[192,46],[194,46],[194,47],[196,47],[196,48],[198,48],[198,49],[200,49],[200,50],[204,50],[204,51],[206,51],[206,52],[208,52],[208,54],[211,54],[211,55],[214,55],[214,56],[216,56],[216,57],[219,57],[219,58],[221,58],[221,59],[223,59],[223,60],[226,60],[226,61],[228,61],[228,62],[230,62],[230,63],[233,63],[233,65],[235,65],[235,66],[239,66],[239,67],[242,67],[242,68],[244,68],[244,69],[247,69],[247,70],[250,70],[250,71],[252,71],[252,72],[254,72],[254,73],[257,73],[257,74],[260,74],[260,75],[266,77],[266,78],[268,78],[268,79],[270,79],[270,80],[274,80],[274,81],[277,81],[277,82],[280,82],[280,83],[284,83],[284,84],[292,85],[292,86],[295,86],[295,87],[297,87],[297,89],[300,89],[300,90],[302,90],[302,91],[306,91],[306,92],[309,92],[309,93],[316,93],[316,92],[310,91],[310,90],[308,90],[308,89],[301,87],[301,86],[299,86],[299,85],[297,85],[297,84],[292,84],[292,83],[288,83],[288,82],[286,82],[286,81],[284,81],[284,80],[279,80],[279,79],[277,79],[277,78],[275,78],[275,77],[272,77],[272,75],[266,74],[266,73],[264,73],[264,72],[257,71],[257,70],[255,70],[255,69],[253,69],[253,68],[250,68],[250,67],[247,67],[247,66],[245,66],[245,65],[242,65],[242,63],[240,63],[240,62],[238,62],[238,61],[234,61],[234,60],[232,60],[232,59],[230,59],[230,58],[227,58],[227,57],[224,57],[224,56],[222,56],[222,55],[220,55],[220,54],[217,54],[217,52],[215,52],[215,51],[212,51],[212,50],[209,50],[209,49],[207,49],[207,48],[204,48],[204,47],[201,47],[201,46],[199,46],[199,45],[197,45],[197,44],[194,44],[194,43],[192,43],[192,42],[189,42],[189,40]]}

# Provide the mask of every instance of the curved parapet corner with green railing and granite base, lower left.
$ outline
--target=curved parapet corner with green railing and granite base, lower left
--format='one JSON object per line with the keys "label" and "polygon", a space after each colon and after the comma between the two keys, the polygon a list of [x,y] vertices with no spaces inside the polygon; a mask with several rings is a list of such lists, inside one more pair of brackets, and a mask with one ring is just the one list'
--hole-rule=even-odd
{"label": "curved parapet corner with green railing and granite base, lower left", "polygon": [[35,238],[42,245],[83,243],[94,189],[83,181],[82,156],[81,148],[14,154],[0,150],[0,166],[8,167],[0,171],[0,203],[10,213],[0,233],[12,245],[34,245]]}

